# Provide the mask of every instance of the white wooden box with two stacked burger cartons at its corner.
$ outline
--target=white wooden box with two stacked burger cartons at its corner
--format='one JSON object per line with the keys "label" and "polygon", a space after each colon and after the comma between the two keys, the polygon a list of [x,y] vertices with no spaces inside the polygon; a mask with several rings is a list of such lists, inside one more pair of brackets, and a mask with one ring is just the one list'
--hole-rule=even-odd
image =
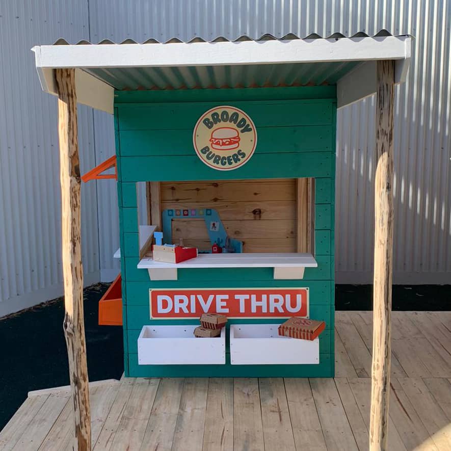
{"label": "white wooden box with two stacked burger cartons at its corner", "polygon": [[196,327],[144,326],[138,337],[138,364],[225,364],[225,327],[216,338],[196,338]]}

